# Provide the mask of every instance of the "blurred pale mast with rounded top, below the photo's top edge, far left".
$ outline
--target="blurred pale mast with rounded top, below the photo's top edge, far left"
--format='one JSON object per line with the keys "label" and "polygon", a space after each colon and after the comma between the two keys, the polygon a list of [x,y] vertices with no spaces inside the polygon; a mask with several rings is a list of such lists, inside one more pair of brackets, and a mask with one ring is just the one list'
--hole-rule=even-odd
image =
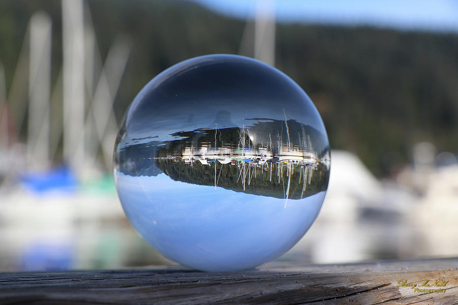
{"label": "blurred pale mast with rounded top, below the photo's top edge, far left", "polygon": [[44,12],[30,21],[27,162],[30,168],[49,167],[51,19]]}

